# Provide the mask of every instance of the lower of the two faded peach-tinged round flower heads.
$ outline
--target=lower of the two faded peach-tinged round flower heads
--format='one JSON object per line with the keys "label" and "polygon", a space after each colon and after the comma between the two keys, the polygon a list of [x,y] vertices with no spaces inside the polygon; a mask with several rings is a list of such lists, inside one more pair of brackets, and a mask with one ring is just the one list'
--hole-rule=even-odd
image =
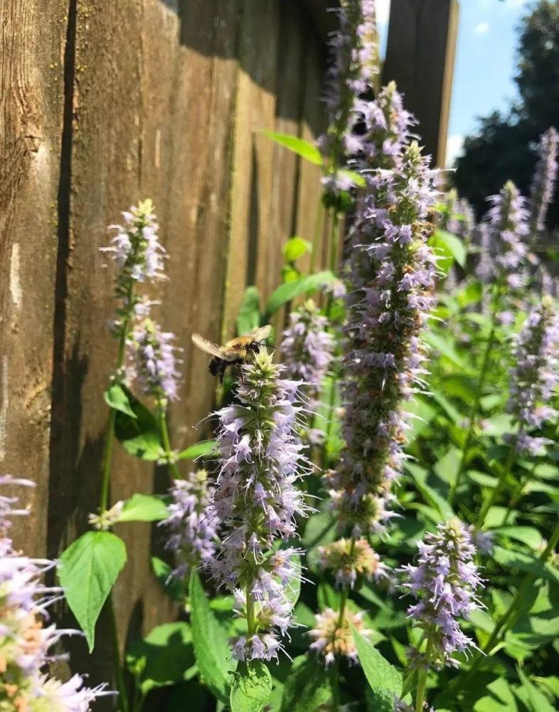
{"label": "lower of the two faded peach-tinged round flower heads", "polygon": [[309,636],[313,639],[310,648],[324,658],[326,667],[341,658],[346,658],[351,664],[357,664],[352,627],[365,637],[372,632],[363,624],[363,613],[353,613],[346,607],[340,620],[339,611],[326,608],[317,613],[315,619],[314,628],[309,630]]}

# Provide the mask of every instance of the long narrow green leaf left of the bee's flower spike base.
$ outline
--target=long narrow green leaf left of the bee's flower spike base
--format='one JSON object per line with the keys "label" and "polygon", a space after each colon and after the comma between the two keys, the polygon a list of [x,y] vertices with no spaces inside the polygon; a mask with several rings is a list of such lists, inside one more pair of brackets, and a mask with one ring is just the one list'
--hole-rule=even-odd
{"label": "long narrow green leaf left of the bee's flower spike base", "polygon": [[208,605],[197,572],[190,580],[191,626],[194,652],[203,682],[224,704],[229,703],[230,671],[236,667],[228,639]]}

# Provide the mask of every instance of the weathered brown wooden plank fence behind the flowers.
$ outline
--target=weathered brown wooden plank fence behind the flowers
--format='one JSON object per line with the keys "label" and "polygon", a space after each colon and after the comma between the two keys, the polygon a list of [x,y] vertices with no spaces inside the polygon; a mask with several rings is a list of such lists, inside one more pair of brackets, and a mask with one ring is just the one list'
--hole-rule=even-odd
{"label": "weathered brown wooden plank fence behind the flowers", "polygon": [[[37,483],[15,530],[27,553],[56,557],[97,504],[115,358],[113,272],[99,248],[119,211],[151,197],[170,255],[154,296],[183,347],[176,447],[203,436],[196,424],[213,405],[191,333],[230,335],[245,286],[265,297],[285,239],[312,236],[319,169],[259,130],[314,140],[324,129],[325,6],[3,0],[0,471]],[[112,501],[161,488],[160,476],[118,449]],[[172,612],[150,572],[151,528],[118,533],[128,550],[116,587],[124,642]],[[105,676],[106,638],[84,663],[97,666],[92,681]]]}

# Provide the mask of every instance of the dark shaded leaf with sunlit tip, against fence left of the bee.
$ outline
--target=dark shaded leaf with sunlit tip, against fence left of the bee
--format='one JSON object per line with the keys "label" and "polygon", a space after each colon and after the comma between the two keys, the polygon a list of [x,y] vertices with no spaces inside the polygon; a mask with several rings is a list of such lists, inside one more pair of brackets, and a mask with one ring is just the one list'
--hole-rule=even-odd
{"label": "dark shaded leaf with sunlit tip, against fence left of the bee", "polygon": [[129,404],[134,418],[117,411],[115,434],[122,447],[134,457],[142,460],[158,460],[161,457],[161,436],[159,424],[153,413],[143,403],[129,393]]}

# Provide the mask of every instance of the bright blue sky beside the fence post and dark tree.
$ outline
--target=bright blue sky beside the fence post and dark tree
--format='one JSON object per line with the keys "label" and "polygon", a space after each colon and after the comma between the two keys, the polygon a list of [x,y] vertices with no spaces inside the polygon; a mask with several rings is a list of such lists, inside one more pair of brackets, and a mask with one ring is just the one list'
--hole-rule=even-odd
{"label": "bright blue sky beside the fence post and dark tree", "polygon": [[[459,0],[447,164],[459,154],[464,136],[475,132],[477,117],[506,109],[516,98],[516,28],[529,5],[529,0]],[[389,8],[390,0],[377,0],[381,42]]]}

